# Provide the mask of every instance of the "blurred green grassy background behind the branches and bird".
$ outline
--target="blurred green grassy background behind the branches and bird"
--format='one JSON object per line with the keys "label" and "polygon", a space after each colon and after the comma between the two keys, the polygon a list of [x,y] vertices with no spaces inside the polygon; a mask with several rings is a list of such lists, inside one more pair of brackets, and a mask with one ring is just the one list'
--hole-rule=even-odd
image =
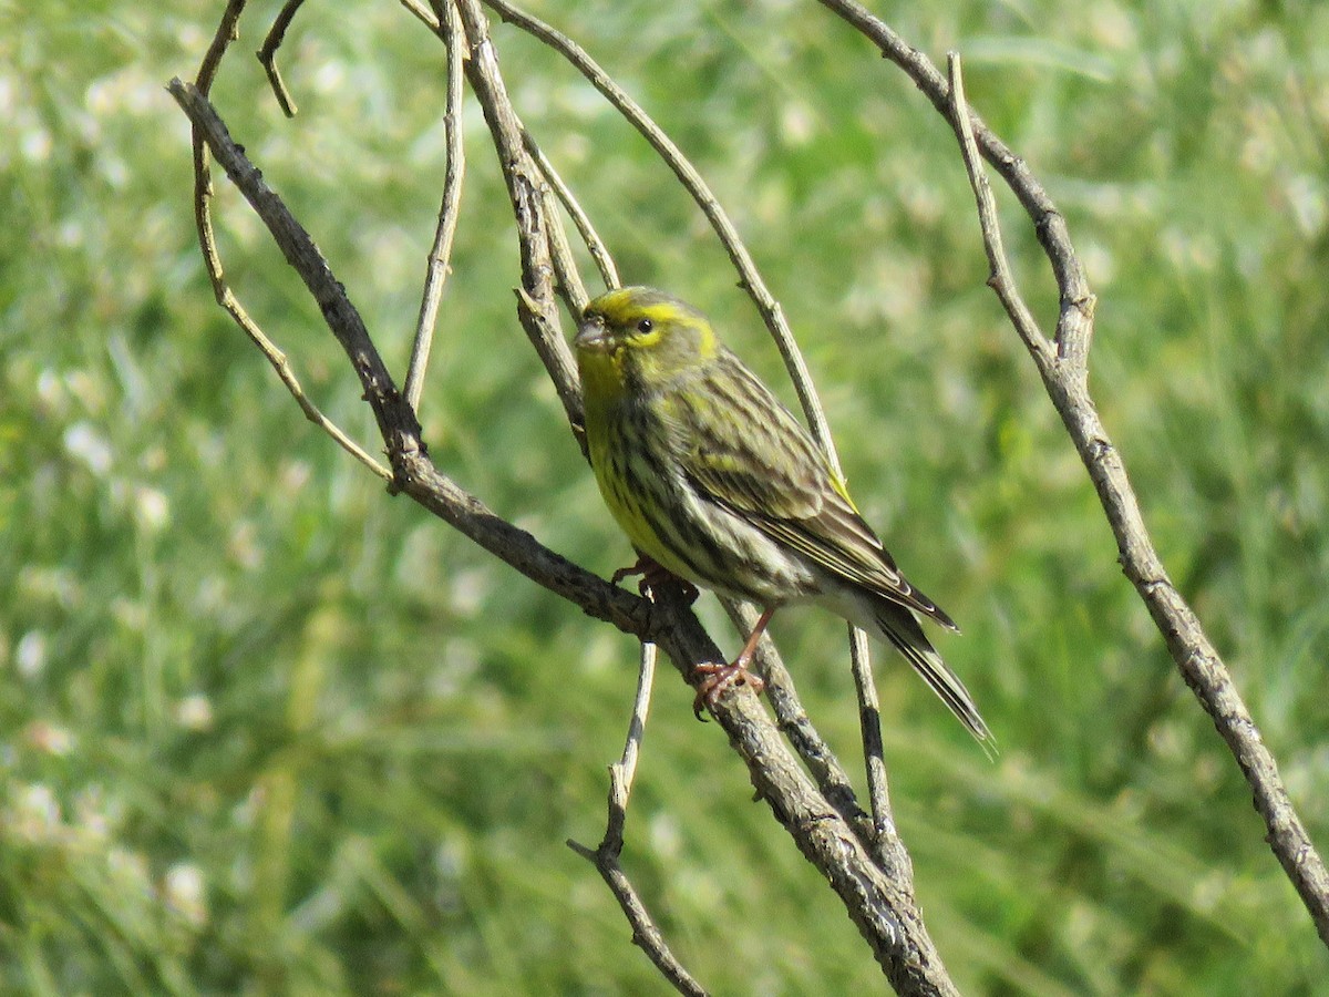
{"label": "blurred green grassy background behind the branches and bird", "polygon": [[[389,500],[211,300],[162,84],[191,74],[219,8],[0,3],[0,990],[662,993],[563,845],[601,833],[631,642]],[[945,124],[811,0],[533,9],[695,157],[801,338],[865,513],[965,626],[944,651],[997,764],[880,669],[898,820],[961,986],[1324,993],[1325,949],[983,286]],[[1069,217],[1104,421],[1329,847],[1329,8],[874,9],[938,62],[965,53],[973,104]],[[392,3],[311,4],[287,122],[246,55],[274,12],[250,11],[217,101],[404,370],[443,53]],[[707,307],[777,382],[666,169],[550,53],[496,39],[625,277]],[[466,138],[427,439],[609,573],[630,553],[513,318],[473,104]],[[1003,205],[1050,323],[1046,266]],[[225,185],[219,206],[233,286],[376,448],[316,308]],[[840,626],[791,611],[775,631],[856,762]],[[880,989],[688,698],[666,671],[629,824],[666,935],[716,993]]]}

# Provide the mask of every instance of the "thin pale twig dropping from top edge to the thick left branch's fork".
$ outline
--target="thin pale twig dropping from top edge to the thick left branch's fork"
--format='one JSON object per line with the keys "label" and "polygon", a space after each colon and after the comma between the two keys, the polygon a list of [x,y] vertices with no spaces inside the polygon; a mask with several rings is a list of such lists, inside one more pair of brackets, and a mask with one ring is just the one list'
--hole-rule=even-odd
{"label": "thin pale twig dropping from top edge to the thick left branch's fork", "polygon": [[439,323],[439,304],[448,280],[452,259],[452,239],[457,233],[457,211],[461,205],[461,179],[466,171],[465,150],[461,145],[461,25],[452,4],[443,8],[439,32],[448,47],[448,96],[443,112],[443,130],[448,164],[443,173],[443,201],[439,206],[439,226],[425,267],[424,294],[420,298],[420,318],[416,322],[411,363],[407,368],[405,396],[411,408],[420,411],[420,392],[424,391],[424,372],[429,366],[429,347]]}

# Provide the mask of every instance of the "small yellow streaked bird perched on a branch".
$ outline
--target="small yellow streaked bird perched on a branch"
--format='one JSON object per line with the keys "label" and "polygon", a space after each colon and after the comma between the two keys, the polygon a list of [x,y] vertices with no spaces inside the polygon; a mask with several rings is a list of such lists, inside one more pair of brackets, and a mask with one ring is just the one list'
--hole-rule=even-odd
{"label": "small yellow streaked bird perched on a branch", "polygon": [[771,617],[817,604],[908,661],[966,730],[993,735],[920,625],[954,621],[912,585],[864,521],[803,423],[687,302],[645,286],[591,300],[573,340],[591,471],[639,561],[614,576],[666,573],[762,609],[730,663],[706,675],[694,710],[748,671]]}

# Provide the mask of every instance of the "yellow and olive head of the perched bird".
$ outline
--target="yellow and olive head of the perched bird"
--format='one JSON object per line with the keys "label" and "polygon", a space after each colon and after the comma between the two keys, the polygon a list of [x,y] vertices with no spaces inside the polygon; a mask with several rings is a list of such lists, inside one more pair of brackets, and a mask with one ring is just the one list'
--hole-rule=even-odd
{"label": "yellow and olive head of the perched bird", "polygon": [[663,388],[720,348],[706,315],[651,287],[621,287],[593,300],[573,346],[582,389],[601,399]]}

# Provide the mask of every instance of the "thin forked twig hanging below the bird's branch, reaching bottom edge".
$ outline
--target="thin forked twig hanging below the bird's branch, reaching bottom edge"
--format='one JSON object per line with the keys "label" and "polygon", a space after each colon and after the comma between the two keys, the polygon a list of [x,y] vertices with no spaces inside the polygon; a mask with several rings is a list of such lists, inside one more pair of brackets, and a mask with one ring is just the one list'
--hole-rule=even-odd
{"label": "thin forked twig hanging below the bird's branch, reaching bottom edge", "polygon": [[627,722],[627,738],[623,754],[609,767],[609,818],[605,824],[605,837],[597,848],[587,848],[579,841],[567,840],[567,847],[587,859],[610,891],[618,899],[627,923],[633,927],[633,944],[638,945],[655,964],[661,974],[679,993],[700,997],[706,990],[683,968],[670,950],[664,936],[641,895],[633,887],[619,859],[623,855],[623,828],[627,823],[627,800],[633,792],[633,779],[637,776],[637,760],[642,751],[642,738],[646,735],[646,714],[651,705],[651,685],[655,679],[655,645],[642,643],[641,667],[637,674],[637,695],[633,699],[633,715]]}

